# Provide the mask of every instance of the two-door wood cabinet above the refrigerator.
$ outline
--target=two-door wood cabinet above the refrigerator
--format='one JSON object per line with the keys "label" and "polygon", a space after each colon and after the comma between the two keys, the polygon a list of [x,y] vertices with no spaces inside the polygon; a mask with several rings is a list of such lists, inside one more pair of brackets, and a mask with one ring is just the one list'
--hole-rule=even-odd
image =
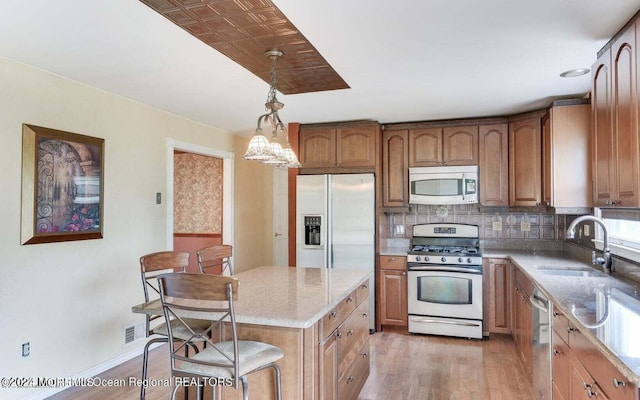
{"label": "two-door wood cabinet above the refrigerator", "polygon": [[300,127],[302,168],[371,168],[376,166],[379,125]]}

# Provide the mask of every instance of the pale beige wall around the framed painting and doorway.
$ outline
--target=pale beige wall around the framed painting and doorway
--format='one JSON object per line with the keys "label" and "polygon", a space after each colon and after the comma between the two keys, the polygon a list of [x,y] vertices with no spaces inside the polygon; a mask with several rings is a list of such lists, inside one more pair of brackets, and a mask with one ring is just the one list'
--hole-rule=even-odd
{"label": "pale beige wall around the framed painting and doorway", "polygon": [[[138,258],[166,249],[168,138],[236,151],[236,265],[270,262],[271,170],[242,161],[244,138],[2,58],[0,88],[0,376],[76,376],[143,345],[123,327],[143,321]],[[105,139],[103,239],[20,245],[22,123]]]}

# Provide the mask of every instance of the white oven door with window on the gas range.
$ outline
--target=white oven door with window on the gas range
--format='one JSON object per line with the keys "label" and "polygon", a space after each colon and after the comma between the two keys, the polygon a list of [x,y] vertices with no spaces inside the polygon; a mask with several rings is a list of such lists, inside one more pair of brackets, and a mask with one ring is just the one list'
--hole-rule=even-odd
{"label": "white oven door with window on the gas range", "polygon": [[482,320],[482,272],[464,268],[429,267],[409,270],[410,315]]}

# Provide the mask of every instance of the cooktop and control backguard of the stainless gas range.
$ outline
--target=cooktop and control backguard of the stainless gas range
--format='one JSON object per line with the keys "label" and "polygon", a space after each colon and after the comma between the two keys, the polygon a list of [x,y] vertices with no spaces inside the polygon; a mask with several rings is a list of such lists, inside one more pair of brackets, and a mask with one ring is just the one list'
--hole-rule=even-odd
{"label": "cooktop and control backguard of the stainless gas range", "polygon": [[477,225],[421,224],[413,226],[407,262],[419,264],[481,265]]}

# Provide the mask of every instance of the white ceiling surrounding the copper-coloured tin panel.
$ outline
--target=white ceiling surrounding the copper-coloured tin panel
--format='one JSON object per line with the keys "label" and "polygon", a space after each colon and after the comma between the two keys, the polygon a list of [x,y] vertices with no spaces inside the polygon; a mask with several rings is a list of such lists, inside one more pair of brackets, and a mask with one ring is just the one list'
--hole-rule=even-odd
{"label": "white ceiling surrounding the copper-coloured tin panel", "polygon": [[[351,89],[278,95],[285,122],[512,114],[583,96],[640,0],[274,0]],[[268,85],[137,0],[3,0],[0,56],[233,133]],[[286,55],[285,55],[286,57]]]}

